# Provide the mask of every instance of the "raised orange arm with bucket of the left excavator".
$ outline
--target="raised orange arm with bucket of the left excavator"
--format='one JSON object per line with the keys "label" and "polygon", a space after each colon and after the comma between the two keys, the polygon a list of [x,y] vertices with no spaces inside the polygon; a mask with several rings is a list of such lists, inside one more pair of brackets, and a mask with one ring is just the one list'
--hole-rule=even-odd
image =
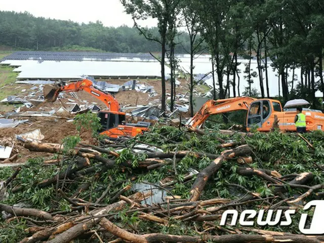
{"label": "raised orange arm with bucket of the left excavator", "polygon": [[112,95],[96,89],[89,79],[72,82],[68,85],[66,85],[64,82],[61,82],[55,86],[47,85],[44,87],[44,98],[47,102],[55,102],[59,93],[61,92],[78,92],[83,90],[105,103],[108,110],[119,111],[120,107],[117,100]]}

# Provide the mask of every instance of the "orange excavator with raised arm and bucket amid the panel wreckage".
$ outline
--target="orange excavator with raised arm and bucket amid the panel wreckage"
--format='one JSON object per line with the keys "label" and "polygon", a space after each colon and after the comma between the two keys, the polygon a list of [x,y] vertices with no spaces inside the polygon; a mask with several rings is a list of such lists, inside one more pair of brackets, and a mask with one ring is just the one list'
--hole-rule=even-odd
{"label": "orange excavator with raised arm and bucket amid the panel wreckage", "polygon": [[101,91],[93,86],[89,79],[83,79],[66,84],[60,82],[57,85],[44,86],[44,99],[46,102],[55,102],[61,92],[86,91],[95,98],[101,100],[107,106],[106,110],[98,112],[101,123],[101,135],[109,138],[135,137],[148,130],[150,123],[140,121],[138,124],[127,124],[126,113],[120,111],[119,103],[110,94]]}

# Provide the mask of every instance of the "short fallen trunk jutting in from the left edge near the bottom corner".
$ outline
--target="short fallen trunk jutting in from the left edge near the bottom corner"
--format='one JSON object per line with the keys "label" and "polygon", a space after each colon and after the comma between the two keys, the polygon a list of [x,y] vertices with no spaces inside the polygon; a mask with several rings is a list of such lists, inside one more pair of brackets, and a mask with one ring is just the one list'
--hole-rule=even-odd
{"label": "short fallen trunk jutting in from the left edge near the bottom corner", "polygon": [[0,204],[0,212],[5,211],[13,216],[33,216],[44,220],[53,220],[51,214],[38,209],[15,208],[9,205]]}

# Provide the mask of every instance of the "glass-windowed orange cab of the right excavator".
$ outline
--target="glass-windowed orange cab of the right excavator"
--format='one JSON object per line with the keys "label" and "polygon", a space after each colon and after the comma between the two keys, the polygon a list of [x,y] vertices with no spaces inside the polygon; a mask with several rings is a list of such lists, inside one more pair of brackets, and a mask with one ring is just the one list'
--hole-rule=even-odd
{"label": "glass-windowed orange cab of the right excavator", "polygon": [[262,128],[264,123],[271,125],[268,120],[273,112],[282,112],[281,104],[270,99],[256,100],[250,104],[247,115],[247,128],[257,126]]}

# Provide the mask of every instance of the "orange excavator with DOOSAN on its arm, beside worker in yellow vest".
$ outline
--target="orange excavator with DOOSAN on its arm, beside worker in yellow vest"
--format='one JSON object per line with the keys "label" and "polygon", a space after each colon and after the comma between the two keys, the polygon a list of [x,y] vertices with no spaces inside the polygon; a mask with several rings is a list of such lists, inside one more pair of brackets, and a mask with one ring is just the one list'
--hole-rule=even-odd
{"label": "orange excavator with DOOSAN on its arm, beside worker in yellow vest", "polygon": [[[200,128],[204,121],[213,114],[220,114],[236,110],[247,110],[247,131],[254,126],[258,131],[269,132],[278,120],[280,130],[296,132],[296,109],[282,110],[281,104],[272,99],[254,99],[250,97],[236,97],[220,100],[208,100],[199,111],[188,120],[186,126],[191,129]],[[303,109],[306,115],[306,131],[324,131],[324,113],[320,110]]]}

